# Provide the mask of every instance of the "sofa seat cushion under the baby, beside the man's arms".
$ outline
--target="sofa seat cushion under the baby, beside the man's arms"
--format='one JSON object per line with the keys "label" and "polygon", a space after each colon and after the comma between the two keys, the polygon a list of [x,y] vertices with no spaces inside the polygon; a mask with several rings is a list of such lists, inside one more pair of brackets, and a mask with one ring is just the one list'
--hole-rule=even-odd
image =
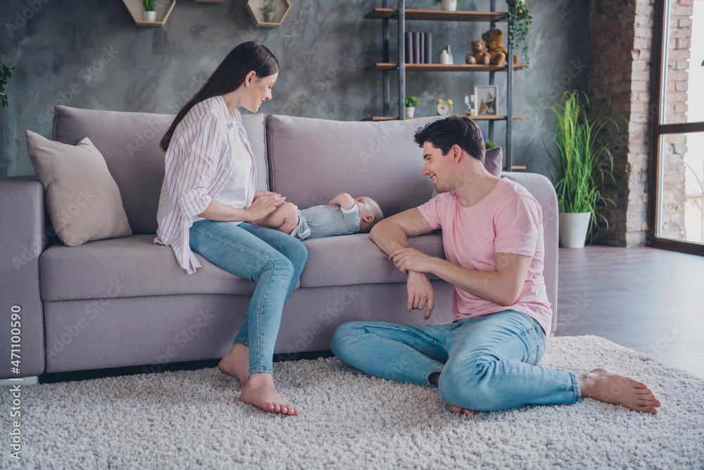
{"label": "sofa seat cushion under the baby, beside the man's arms", "polygon": [[[405,283],[408,279],[367,233],[313,238],[303,243],[308,248],[308,261],[301,275],[301,287]],[[445,259],[441,233],[410,237],[408,245]]]}

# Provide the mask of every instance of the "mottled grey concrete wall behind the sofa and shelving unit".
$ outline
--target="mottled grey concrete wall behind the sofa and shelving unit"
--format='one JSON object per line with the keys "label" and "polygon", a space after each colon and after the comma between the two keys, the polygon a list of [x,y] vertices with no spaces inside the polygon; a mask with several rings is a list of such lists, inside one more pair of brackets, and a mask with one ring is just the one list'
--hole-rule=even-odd
{"label": "mottled grey concrete wall behind the sofa and shelving unit", "polygon": [[[408,8],[439,8],[430,0],[406,3]],[[496,3],[505,9],[503,1]],[[291,0],[278,28],[254,26],[245,4],[178,0],[165,27],[155,28],[134,25],[119,0],[0,1],[0,61],[17,68],[7,87],[10,106],[0,109],[0,176],[34,173],[25,130],[51,137],[56,104],[175,113],[227,52],[247,40],[265,43],[282,66],[274,99],[262,112],[336,120],[381,114],[382,74],[365,67],[382,61],[382,22],[363,19],[382,6],[381,0]],[[589,1],[529,1],[529,7],[532,70],[516,73],[514,101],[515,113],[528,118],[516,122],[514,163],[548,173],[542,140],[548,140],[552,120],[541,110],[562,89],[586,90]],[[489,1],[465,0],[460,9],[489,10]],[[433,33],[435,61],[441,47],[451,44],[455,63],[464,62],[472,39],[488,28],[484,23],[407,25],[407,30]],[[395,31],[392,25],[392,35]],[[439,98],[453,99],[455,112],[463,113],[465,94],[488,82],[486,73],[408,73],[407,94],[425,99],[417,110],[421,115],[434,114]],[[497,74],[496,83],[501,113],[503,75]],[[391,96],[396,93],[392,87]],[[487,124],[482,128],[487,130]],[[499,145],[503,133],[505,125],[497,123]]]}

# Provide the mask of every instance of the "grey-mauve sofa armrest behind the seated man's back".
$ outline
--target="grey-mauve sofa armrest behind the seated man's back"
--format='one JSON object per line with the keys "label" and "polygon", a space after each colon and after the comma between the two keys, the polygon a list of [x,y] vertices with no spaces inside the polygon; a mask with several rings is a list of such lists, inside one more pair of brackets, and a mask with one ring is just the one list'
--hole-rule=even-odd
{"label": "grey-mauve sofa armrest behind the seated man's back", "polygon": [[553,307],[553,326],[548,334],[555,332],[558,317],[558,197],[548,178],[538,173],[503,172],[501,178],[508,178],[526,188],[543,209],[543,240],[545,258],[543,277],[548,292],[548,300]]}

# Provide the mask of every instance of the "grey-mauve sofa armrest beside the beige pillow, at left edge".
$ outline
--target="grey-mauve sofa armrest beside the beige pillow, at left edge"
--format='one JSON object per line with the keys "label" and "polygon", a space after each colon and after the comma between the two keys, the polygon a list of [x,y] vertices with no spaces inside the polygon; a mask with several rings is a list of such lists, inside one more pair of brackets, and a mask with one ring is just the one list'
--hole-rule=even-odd
{"label": "grey-mauve sofa armrest beside the beige pillow, at left edge", "polygon": [[[6,358],[0,361],[0,378],[39,376],[45,364],[39,255],[49,240],[44,187],[31,176],[1,178],[0,201],[0,357]],[[11,326],[11,314],[18,308],[19,331]],[[20,345],[14,347],[20,356],[20,373],[12,370],[12,344]]]}

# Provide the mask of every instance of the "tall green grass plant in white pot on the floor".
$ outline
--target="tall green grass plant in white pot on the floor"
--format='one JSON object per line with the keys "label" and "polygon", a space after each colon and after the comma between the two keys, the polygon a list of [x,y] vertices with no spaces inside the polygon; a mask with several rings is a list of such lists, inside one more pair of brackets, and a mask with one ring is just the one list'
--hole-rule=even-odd
{"label": "tall green grass plant in white pot on the floor", "polygon": [[584,247],[588,234],[593,239],[599,219],[608,227],[600,209],[614,204],[599,190],[605,178],[613,180],[612,143],[601,142],[599,135],[606,125],[616,125],[615,119],[590,121],[588,107],[586,94],[575,90],[563,93],[558,104],[547,108],[555,115],[557,155],[551,158],[557,170],[560,244],[568,248]]}

